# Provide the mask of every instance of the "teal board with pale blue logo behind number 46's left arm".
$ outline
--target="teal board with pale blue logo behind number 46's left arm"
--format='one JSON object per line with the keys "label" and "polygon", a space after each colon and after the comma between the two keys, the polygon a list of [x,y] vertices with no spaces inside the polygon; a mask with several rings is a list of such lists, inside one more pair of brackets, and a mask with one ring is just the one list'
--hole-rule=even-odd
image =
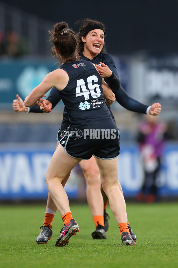
{"label": "teal board with pale blue logo behind number 46's left arm", "polygon": [[[42,82],[44,77],[58,68],[52,60],[1,60],[0,108],[12,107],[16,94],[22,99]],[[48,91],[47,95],[50,91]]]}

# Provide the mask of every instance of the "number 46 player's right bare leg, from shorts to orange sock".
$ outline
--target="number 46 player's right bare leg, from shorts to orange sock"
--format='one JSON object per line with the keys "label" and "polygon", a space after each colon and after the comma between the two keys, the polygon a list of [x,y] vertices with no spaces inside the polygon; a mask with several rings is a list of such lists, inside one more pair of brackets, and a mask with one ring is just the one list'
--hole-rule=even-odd
{"label": "number 46 player's right bare leg, from shorts to orange sock", "polygon": [[103,160],[96,158],[99,167],[101,184],[109,199],[111,211],[117,223],[127,223],[125,200],[119,188],[117,158]]}

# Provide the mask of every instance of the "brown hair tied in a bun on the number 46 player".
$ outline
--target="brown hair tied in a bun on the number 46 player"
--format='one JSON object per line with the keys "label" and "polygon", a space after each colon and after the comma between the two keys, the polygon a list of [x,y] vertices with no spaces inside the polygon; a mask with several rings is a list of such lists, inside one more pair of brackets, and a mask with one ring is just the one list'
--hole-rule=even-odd
{"label": "brown hair tied in a bun on the number 46 player", "polygon": [[68,24],[64,21],[58,22],[49,31],[50,41],[53,42],[51,54],[56,56],[55,49],[58,49],[59,54],[68,61],[80,60],[77,52],[78,39],[75,32],[69,28]]}

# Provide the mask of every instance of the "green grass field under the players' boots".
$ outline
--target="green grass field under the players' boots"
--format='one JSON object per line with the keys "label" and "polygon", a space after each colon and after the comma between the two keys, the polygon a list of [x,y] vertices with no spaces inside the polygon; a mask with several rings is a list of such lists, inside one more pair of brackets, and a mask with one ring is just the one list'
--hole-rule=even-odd
{"label": "green grass field under the players' boots", "polygon": [[93,240],[94,223],[88,205],[71,205],[79,233],[66,247],[55,247],[63,222],[57,212],[53,236],[36,244],[43,224],[45,205],[0,207],[0,267],[177,267],[176,203],[127,204],[128,220],[137,235],[136,246],[123,246],[117,223],[110,211],[107,239]]}

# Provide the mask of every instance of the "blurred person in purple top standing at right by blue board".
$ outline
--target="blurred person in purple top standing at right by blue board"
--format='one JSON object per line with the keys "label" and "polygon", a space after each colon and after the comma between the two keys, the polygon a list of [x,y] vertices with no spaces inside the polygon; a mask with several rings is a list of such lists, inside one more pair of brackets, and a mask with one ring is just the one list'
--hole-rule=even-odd
{"label": "blurred person in purple top standing at right by blue board", "polygon": [[159,116],[145,115],[144,118],[137,135],[144,169],[144,181],[137,200],[152,203],[158,200],[157,178],[167,139],[167,125],[158,121]]}

